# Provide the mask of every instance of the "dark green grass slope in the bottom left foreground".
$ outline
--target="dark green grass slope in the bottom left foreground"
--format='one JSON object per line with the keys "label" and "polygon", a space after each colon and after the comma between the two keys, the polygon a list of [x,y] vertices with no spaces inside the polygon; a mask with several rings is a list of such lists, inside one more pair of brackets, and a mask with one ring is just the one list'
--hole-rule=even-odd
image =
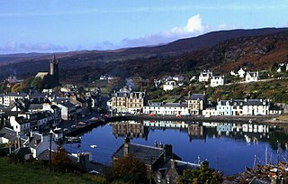
{"label": "dark green grass slope in the bottom left foreground", "polygon": [[48,168],[31,163],[10,163],[8,158],[0,158],[0,183],[103,183],[99,177],[89,174],[49,173]]}

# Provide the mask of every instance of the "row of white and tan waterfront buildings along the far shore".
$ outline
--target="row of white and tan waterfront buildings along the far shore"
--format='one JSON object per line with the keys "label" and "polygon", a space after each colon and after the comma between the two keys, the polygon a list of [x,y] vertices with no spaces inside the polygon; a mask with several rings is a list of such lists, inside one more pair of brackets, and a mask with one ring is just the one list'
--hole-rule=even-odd
{"label": "row of white and tan waterfront buildings along the far shore", "polygon": [[208,106],[205,94],[189,94],[185,102],[149,102],[144,92],[132,92],[122,88],[107,103],[108,109],[120,114],[147,115],[279,115],[280,108],[271,106],[267,99],[219,100],[216,106]]}

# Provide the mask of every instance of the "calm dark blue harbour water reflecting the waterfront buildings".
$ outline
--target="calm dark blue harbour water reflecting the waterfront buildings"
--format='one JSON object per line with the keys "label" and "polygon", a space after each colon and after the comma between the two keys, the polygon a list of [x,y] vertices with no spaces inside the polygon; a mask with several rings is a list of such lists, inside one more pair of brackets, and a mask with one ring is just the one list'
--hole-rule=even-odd
{"label": "calm dark blue harbour water reflecting the waterfront buildings", "polygon": [[[77,144],[64,147],[67,152],[92,152],[94,161],[111,164],[113,152],[121,146],[124,136],[130,136],[132,143],[172,144],[173,151],[183,161],[208,160],[212,168],[230,175],[243,171],[245,166],[253,167],[254,161],[257,164],[264,164],[266,158],[270,162],[276,162],[277,158],[284,161],[286,132],[284,128],[264,124],[115,122],[82,135],[80,148]],[[91,148],[92,144],[97,147]]]}

